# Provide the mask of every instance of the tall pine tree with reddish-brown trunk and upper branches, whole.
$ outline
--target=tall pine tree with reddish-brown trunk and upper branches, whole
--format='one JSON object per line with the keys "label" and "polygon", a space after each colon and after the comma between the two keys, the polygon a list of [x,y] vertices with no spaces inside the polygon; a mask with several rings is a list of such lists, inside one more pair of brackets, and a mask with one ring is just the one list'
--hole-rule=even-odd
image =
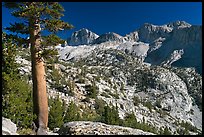
{"label": "tall pine tree with reddish-brown trunk and upper branches, whole", "polygon": [[[33,81],[34,120],[37,134],[46,134],[48,124],[48,101],[46,94],[46,78],[44,58],[55,55],[56,51],[48,46],[56,46],[62,40],[54,35],[57,31],[71,29],[73,26],[60,20],[63,7],[58,2],[4,2],[4,6],[13,12],[13,16],[22,22],[11,24],[6,30],[17,35],[25,34],[29,40],[20,39],[21,43],[30,44]],[[48,36],[41,36],[41,32],[48,30]],[[19,41],[20,41],[19,40]]]}

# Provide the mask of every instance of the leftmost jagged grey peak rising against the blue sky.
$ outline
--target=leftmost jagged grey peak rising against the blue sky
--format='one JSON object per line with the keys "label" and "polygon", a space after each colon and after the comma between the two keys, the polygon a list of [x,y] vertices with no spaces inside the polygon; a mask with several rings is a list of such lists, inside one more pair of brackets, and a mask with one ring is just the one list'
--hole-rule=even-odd
{"label": "leftmost jagged grey peak rising against the blue sky", "polygon": [[77,45],[89,45],[98,38],[99,36],[87,29],[81,29],[79,31],[76,31],[72,34],[69,45],[71,46],[77,46]]}

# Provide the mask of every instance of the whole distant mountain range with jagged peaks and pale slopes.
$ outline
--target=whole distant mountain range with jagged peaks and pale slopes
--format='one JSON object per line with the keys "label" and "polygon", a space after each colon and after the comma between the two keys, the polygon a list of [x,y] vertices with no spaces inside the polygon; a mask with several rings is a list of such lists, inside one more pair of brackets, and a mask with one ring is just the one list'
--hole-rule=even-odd
{"label": "whole distant mountain range with jagged peaks and pale slopes", "polygon": [[[95,48],[122,50],[151,65],[195,67],[202,74],[202,26],[176,21],[164,25],[143,24],[139,29],[120,36],[114,32],[97,35],[80,29],[68,38],[61,59],[86,57]],[[68,56],[64,56],[70,55]]]}

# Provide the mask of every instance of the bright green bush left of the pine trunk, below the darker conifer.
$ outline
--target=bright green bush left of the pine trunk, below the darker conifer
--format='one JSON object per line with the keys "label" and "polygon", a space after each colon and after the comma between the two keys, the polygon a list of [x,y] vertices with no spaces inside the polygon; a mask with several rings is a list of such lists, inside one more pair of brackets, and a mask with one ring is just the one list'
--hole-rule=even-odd
{"label": "bright green bush left of the pine trunk, below the darker conifer", "polygon": [[2,116],[11,119],[19,128],[30,128],[34,115],[32,110],[31,85],[22,77],[14,78],[4,74]]}

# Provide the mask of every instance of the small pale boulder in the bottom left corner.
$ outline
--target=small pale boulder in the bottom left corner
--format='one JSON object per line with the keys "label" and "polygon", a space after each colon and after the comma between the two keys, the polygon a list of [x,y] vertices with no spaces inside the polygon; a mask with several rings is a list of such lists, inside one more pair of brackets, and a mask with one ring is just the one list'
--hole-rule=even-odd
{"label": "small pale boulder in the bottom left corner", "polygon": [[2,117],[2,135],[18,135],[17,127],[10,119]]}

